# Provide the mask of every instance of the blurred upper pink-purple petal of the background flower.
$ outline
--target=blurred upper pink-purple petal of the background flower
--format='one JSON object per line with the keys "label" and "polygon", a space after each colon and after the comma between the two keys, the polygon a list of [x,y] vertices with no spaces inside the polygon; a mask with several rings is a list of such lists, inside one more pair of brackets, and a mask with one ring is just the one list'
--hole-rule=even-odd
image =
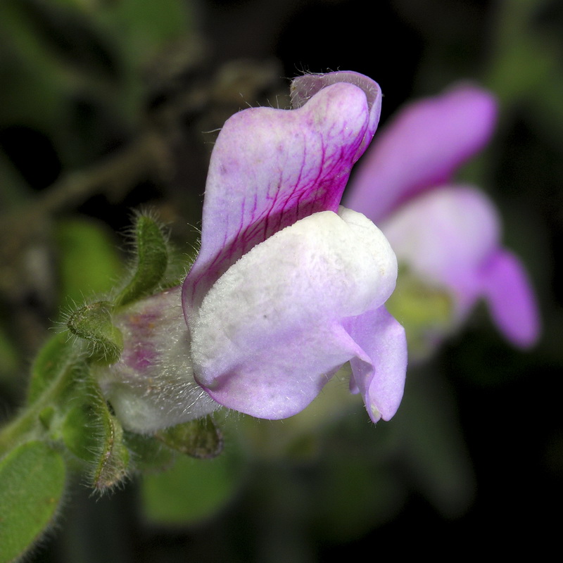
{"label": "blurred upper pink-purple petal of the background flower", "polygon": [[493,96],[468,84],[410,104],[367,152],[346,207],[378,223],[419,191],[448,182],[491,138],[496,115]]}

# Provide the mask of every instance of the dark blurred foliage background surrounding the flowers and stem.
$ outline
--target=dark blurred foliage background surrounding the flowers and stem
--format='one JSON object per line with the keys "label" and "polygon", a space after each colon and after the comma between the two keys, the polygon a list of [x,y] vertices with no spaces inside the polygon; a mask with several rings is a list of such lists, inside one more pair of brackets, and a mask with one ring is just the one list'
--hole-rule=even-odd
{"label": "dark blurred foliage background surrounding the flowers and stem", "polygon": [[[132,208],[194,254],[216,131],[288,107],[302,71],[355,70],[405,101],[472,80],[499,100],[491,144],[460,170],[500,210],[543,335],[507,346],[481,305],[367,424],[346,374],[296,417],[227,416],[224,453],[179,458],[98,502],[75,483],[37,562],[310,562],[386,550],[507,554],[555,534],[563,10],[557,0],[4,0],[0,4],[0,393],[20,403],[61,308],[122,270]],[[377,135],[377,133],[376,133]],[[346,404],[346,411],[342,406]],[[448,537],[448,543],[443,538]],[[514,538],[518,538],[517,542]],[[405,541],[405,539],[408,539]],[[537,551],[536,551],[537,552]]]}

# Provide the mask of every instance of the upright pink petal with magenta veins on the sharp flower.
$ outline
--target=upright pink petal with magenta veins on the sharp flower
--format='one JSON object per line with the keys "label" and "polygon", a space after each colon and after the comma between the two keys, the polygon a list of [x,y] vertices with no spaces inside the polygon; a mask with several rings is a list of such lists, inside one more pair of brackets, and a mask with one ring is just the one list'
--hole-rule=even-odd
{"label": "upright pink petal with magenta veins on the sharp flower", "polygon": [[298,110],[251,108],[227,120],[211,156],[201,251],[184,281],[186,318],[253,246],[312,213],[338,210],[370,126],[366,94],[346,83]]}

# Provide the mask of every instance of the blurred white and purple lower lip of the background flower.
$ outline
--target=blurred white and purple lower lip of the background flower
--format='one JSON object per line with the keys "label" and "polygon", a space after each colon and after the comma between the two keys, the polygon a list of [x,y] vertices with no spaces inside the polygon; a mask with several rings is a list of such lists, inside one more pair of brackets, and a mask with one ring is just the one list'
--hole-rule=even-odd
{"label": "blurred white and purple lower lip of the background flower", "polygon": [[484,297],[500,331],[517,346],[538,338],[538,308],[524,267],[500,247],[493,202],[469,186],[420,194],[380,224],[397,255],[424,283],[453,296],[455,324]]}

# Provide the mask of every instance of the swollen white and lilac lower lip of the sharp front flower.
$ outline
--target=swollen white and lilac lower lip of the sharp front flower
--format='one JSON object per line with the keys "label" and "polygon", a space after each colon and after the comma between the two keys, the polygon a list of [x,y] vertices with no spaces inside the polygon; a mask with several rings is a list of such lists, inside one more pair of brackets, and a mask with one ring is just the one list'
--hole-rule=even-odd
{"label": "swollen white and lilac lower lip of the sharp front flower", "polygon": [[396,258],[360,213],[305,217],[255,246],[205,296],[191,325],[196,380],[249,415],[296,414],[358,346],[341,321],[378,308]]}

